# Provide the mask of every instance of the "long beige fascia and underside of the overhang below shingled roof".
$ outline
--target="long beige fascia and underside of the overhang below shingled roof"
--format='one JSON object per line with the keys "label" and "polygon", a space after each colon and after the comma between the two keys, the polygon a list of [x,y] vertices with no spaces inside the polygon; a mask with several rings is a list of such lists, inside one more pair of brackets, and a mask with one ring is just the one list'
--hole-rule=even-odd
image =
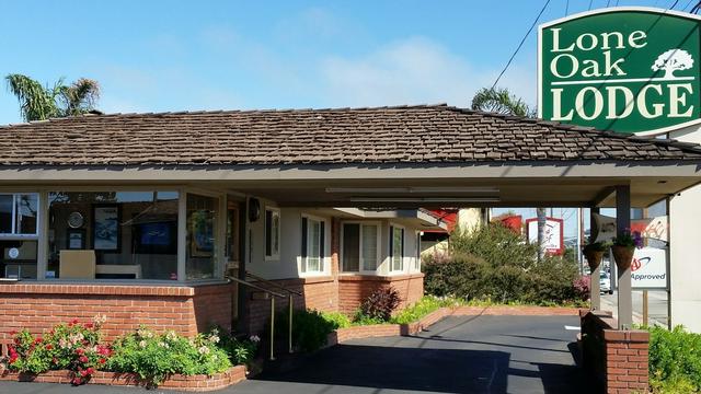
{"label": "long beige fascia and underside of the overhang below shingled roof", "polygon": [[229,166],[2,167],[5,187],[192,185],[280,206],[348,208],[613,206],[630,185],[647,207],[701,182],[701,161],[519,161]]}

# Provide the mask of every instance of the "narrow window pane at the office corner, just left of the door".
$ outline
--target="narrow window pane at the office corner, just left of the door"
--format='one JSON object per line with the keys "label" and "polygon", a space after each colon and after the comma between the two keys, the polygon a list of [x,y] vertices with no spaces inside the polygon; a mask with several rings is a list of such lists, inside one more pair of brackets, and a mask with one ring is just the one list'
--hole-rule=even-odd
{"label": "narrow window pane at the office corner, just left of the door", "polygon": [[215,277],[217,211],[216,198],[187,195],[187,279]]}

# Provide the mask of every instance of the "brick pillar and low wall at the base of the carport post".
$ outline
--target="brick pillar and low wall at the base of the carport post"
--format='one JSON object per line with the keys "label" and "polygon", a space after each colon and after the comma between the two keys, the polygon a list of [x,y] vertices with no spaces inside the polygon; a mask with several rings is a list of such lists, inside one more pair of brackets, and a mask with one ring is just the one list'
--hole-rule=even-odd
{"label": "brick pillar and low wall at the base of the carport post", "polygon": [[583,311],[582,363],[602,393],[648,391],[650,333],[621,331],[608,313]]}

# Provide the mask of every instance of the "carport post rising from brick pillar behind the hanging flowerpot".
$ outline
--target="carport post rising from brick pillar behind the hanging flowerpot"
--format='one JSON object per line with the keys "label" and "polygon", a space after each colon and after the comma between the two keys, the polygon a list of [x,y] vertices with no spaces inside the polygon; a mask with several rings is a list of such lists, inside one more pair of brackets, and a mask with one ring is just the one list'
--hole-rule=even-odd
{"label": "carport post rising from brick pillar behind the hanging flowerpot", "polygon": [[[616,186],[616,233],[623,235],[631,229],[631,187]],[[633,292],[631,268],[618,270],[618,328],[630,329],[633,325]]]}

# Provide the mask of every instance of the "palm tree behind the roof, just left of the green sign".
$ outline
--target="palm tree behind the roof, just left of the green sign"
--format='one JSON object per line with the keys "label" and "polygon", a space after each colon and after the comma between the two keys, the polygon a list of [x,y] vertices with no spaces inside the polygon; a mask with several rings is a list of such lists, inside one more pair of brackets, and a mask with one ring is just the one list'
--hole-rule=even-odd
{"label": "palm tree behind the roof, just left of the green sign", "polygon": [[[472,97],[472,109],[504,115],[536,117],[536,111],[524,100],[512,94],[508,89],[482,88]],[[538,217],[538,260],[545,254],[545,208],[537,208]]]}

